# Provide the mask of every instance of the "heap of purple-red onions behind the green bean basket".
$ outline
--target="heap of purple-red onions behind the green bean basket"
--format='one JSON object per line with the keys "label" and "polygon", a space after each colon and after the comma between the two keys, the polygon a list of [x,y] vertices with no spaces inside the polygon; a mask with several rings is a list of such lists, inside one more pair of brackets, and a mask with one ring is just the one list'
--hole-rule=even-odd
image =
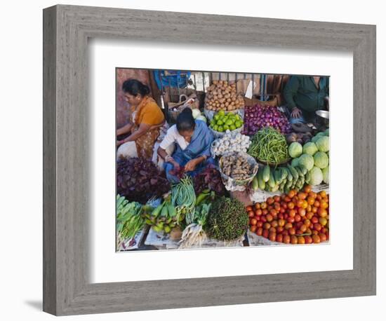
{"label": "heap of purple-red onions behind the green bean basket", "polygon": [[254,135],[258,130],[272,127],[279,132],[286,134],[291,131],[291,125],[286,115],[274,106],[246,107],[244,115],[244,132],[246,135]]}

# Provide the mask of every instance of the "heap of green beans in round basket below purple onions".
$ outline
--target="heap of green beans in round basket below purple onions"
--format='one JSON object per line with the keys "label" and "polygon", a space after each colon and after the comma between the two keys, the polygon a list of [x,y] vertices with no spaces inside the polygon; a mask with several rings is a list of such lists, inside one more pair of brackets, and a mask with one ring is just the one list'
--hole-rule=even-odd
{"label": "heap of green beans in round basket below purple onions", "polygon": [[248,154],[273,165],[288,159],[286,137],[274,128],[263,128],[253,135]]}

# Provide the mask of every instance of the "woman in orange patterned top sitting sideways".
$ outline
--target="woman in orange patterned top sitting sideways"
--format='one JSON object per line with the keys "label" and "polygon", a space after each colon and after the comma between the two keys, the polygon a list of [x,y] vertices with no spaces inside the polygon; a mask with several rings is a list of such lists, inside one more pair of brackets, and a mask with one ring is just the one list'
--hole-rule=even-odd
{"label": "woman in orange patterned top sitting sideways", "polygon": [[122,85],[126,102],[131,106],[131,120],[117,130],[117,136],[131,132],[125,139],[118,140],[118,157],[142,157],[151,159],[159,128],[165,117],[157,102],[149,97],[149,86],[137,79],[128,79]]}

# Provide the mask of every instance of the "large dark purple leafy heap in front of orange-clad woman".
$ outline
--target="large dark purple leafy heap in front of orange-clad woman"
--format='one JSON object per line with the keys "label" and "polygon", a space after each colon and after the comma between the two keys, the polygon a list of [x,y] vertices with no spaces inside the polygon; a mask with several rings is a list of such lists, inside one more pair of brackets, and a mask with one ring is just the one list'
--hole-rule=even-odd
{"label": "large dark purple leafy heap in front of orange-clad woman", "polygon": [[170,191],[170,184],[157,166],[145,158],[117,161],[117,193],[130,201],[145,204],[152,196]]}

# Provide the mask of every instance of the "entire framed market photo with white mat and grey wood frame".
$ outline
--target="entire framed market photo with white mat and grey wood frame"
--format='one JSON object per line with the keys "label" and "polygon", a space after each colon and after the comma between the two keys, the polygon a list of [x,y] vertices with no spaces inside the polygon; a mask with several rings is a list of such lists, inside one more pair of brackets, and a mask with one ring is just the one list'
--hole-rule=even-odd
{"label": "entire framed market photo with white mat and grey wood frame", "polygon": [[48,313],[373,295],[375,174],[375,26],[44,9]]}

